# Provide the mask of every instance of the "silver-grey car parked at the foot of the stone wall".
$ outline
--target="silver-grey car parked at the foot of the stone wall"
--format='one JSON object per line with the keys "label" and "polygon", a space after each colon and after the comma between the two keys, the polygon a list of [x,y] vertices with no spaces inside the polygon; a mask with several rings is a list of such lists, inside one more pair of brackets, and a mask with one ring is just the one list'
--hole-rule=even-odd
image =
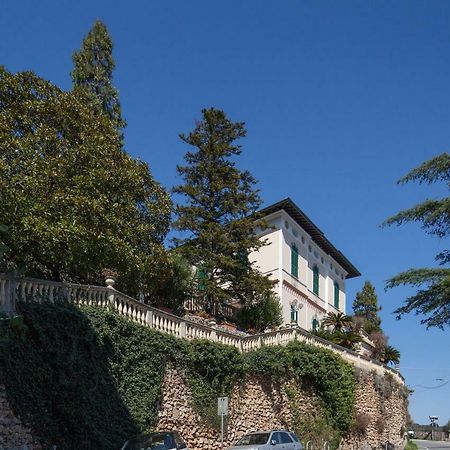
{"label": "silver-grey car parked at the foot of the stone wall", "polygon": [[292,431],[271,430],[244,434],[228,450],[303,450],[303,446]]}

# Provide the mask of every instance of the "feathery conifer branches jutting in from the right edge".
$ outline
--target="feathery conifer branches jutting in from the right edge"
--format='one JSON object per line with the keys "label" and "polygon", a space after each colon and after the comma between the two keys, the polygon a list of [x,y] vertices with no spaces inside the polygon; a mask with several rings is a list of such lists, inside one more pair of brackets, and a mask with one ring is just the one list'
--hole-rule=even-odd
{"label": "feathery conifer branches jutting in from the right edge", "polygon": [[[443,182],[450,187],[450,155],[442,153],[409,172],[398,183],[416,181],[419,184]],[[450,197],[428,199],[390,217],[383,225],[403,225],[418,222],[422,229],[441,239],[450,234]],[[441,267],[410,269],[387,281],[386,288],[409,285],[419,288],[408,297],[403,306],[395,310],[397,318],[415,312],[423,314],[422,323],[428,327],[444,328],[450,325],[450,251],[436,256]]]}

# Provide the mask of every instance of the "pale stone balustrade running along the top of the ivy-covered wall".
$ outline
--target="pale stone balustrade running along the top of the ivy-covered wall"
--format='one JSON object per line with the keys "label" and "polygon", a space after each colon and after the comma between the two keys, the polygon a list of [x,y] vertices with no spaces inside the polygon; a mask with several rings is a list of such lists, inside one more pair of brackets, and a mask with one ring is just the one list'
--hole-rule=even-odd
{"label": "pale stone balustrade running along the top of the ivy-covered wall", "polygon": [[0,311],[14,314],[18,302],[66,301],[75,305],[99,306],[117,311],[133,322],[172,336],[185,339],[208,339],[231,345],[241,352],[249,352],[262,346],[286,345],[288,342],[298,340],[316,347],[327,348],[361,369],[375,371],[380,375],[390,373],[398,382],[404,383],[398,371],[352,350],[313,336],[298,326],[239,336],[153,308],[114,289],[113,280],[107,280],[107,283],[106,287],[89,286],[14,277],[0,273]]}

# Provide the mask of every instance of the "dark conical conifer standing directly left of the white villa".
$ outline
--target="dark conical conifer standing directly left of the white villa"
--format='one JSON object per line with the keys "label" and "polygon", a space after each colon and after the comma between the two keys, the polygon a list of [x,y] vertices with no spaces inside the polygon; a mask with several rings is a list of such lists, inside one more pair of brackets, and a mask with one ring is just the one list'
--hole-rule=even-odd
{"label": "dark conical conifer standing directly left of the white villa", "polygon": [[246,135],[243,123],[231,122],[225,113],[204,109],[203,118],[183,142],[194,148],[178,166],[184,184],[174,192],[186,198],[176,207],[175,229],[179,251],[195,265],[201,277],[199,292],[212,309],[230,299],[255,303],[270,295],[274,284],[260,274],[248,255],[266,245],[255,230],[264,228],[257,211],[261,205],[256,180],[233,161]]}

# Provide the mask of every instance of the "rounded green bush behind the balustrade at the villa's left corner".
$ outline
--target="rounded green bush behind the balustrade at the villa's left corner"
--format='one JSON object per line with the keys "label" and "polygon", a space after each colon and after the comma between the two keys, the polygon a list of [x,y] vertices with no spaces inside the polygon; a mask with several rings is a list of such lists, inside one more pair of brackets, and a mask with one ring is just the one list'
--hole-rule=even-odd
{"label": "rounded green bush behind the balustrade at the villa's left corner", "polygon": [[281,325],[283,321],[280,300],[270,293],[258,302],[244,305],[237,312],[237,322],[242,328],[257,332]]}

